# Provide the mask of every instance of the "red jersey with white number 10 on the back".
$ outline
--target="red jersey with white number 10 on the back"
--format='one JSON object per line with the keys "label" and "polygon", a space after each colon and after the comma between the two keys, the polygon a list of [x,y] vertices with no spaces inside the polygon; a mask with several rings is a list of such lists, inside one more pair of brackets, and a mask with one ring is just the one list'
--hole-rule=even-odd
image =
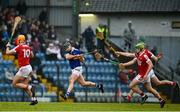
{"label": "red jersey with white number 10 on the back", "polygon": [[29,65],[32,49],[26,44],[20,44],[14,48],[18,55],[19,66]]}

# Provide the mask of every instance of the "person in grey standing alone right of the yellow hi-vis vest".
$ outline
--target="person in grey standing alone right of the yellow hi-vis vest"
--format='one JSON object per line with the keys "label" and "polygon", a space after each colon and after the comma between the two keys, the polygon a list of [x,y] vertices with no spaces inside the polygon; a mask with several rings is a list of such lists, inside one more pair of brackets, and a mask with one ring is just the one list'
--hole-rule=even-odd
{"label": "person in grey standing alone right of the yellow hi-vis vest", "polygon": [[125,50],[127,50],[127,47],[129,48],[127,51],[134,50],[134,47],[132,46],[137,43],[137,37],[135,30],[132,28],[132,21],[128,22],[128,28],[124,30],[123,35],[125,37]]}

